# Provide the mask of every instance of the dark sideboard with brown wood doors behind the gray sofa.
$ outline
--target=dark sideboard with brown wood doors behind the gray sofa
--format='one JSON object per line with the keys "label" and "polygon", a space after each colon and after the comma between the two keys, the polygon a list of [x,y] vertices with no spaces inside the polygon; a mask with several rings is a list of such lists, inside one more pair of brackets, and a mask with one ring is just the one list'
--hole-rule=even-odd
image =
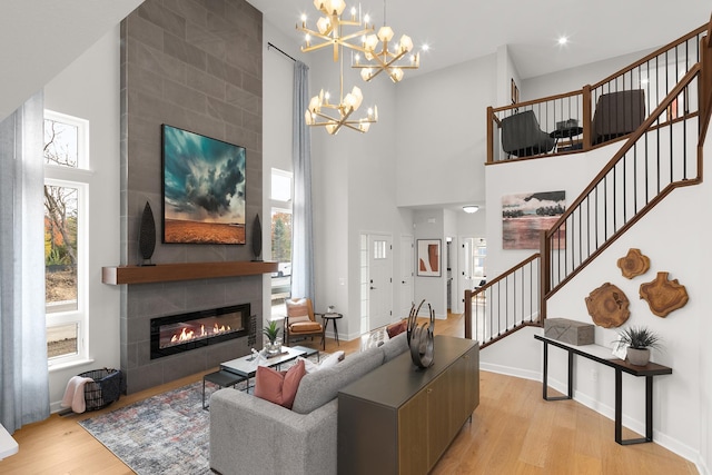
{"label": "dark sideboard with brown wood doors behind the gray sofa", "polygon": [[338,473],[427,474],[479,404],[479,345],[435,336],[417,370],[405,352],[338,393]]}

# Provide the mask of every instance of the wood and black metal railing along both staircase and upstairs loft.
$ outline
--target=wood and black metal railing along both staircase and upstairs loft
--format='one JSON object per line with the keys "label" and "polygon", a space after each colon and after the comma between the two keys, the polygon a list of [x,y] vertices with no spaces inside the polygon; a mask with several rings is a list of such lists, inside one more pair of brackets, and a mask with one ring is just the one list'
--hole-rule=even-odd
{"label": "wood and black metal railing along both staircase and upstairs loft", "polygon": [[484,348],[526,326],[543,326],[552,296],[668,195],[702,181],[702,146],[712,112],[710,38],[712,19],[581,91],[487,110],[488,165],[506,166],[494,160],[494,138],[502,118],[517,110],[536,111],[541,122],[556,122],[582,110],[582,150],[576,152],[586,152],[610,144],[594,144],[591,119],[596,98],[645,88],[652,109],[634,132],[619,139],[625,140],[623,146],[542,232],[540,253],[465,291],[466,338],[477,339]]}

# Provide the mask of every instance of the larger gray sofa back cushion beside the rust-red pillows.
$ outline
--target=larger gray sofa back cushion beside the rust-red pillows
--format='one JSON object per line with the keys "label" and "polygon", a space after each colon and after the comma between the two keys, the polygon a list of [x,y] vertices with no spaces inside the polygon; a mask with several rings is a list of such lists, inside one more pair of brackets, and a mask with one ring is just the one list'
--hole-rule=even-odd
{"label": "larger gray sofa back cushion beside the rust-red pillows", "polygon": [[301,378],[291,409],[299,414],[310,413],[336,398],[344,386],[380,366],[382,363],[382,349],[370,348],[346,357],[336,366],[306,375]]}

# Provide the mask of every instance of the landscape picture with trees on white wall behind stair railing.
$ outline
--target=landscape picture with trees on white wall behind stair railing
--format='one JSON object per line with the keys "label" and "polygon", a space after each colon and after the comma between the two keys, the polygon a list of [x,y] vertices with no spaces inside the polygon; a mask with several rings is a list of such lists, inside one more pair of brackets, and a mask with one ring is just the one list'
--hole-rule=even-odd
{"label": "landscape picture with trees on white wall behind stair railing", "polygon": [[[502,197],[502,248],[538,249],[540,232],[550,229],[566,210],[566,191],[544,191]],[[555,249],[566,247],[564,227],[553,239]]]}

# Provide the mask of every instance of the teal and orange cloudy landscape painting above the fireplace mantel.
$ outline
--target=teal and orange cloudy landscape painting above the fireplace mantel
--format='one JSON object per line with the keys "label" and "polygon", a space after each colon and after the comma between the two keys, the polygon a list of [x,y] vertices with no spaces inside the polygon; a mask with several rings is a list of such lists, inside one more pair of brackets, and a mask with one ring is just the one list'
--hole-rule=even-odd
{"label": "teal and orange cloudy landscape painting above the fireplace mantel", "polygon": [[245,244],[245,148],[161,129],[164,243]]}

